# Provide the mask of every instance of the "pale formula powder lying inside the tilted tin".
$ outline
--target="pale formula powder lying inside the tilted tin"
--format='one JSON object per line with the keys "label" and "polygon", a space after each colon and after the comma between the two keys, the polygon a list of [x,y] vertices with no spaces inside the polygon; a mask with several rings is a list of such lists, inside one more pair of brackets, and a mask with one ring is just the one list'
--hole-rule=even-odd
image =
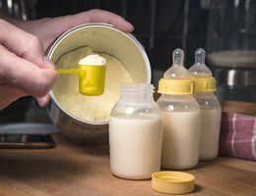
{"label": "pale formula powder lying inside the tilted tin", "polygon": [[[56,63],[57,69],[78,69],[79,61],[93,55],[90,47],[82,47],[63,55]],[[100,96],[79,93],[79,77],[76,73],[60,74],[53,87],[59,104],[73,116],[89,122],[107,122],[114,104],[119,99],[121,83],[133,83],[124,66],[107,54],[99,54],[106,61],[105,89]]]}

